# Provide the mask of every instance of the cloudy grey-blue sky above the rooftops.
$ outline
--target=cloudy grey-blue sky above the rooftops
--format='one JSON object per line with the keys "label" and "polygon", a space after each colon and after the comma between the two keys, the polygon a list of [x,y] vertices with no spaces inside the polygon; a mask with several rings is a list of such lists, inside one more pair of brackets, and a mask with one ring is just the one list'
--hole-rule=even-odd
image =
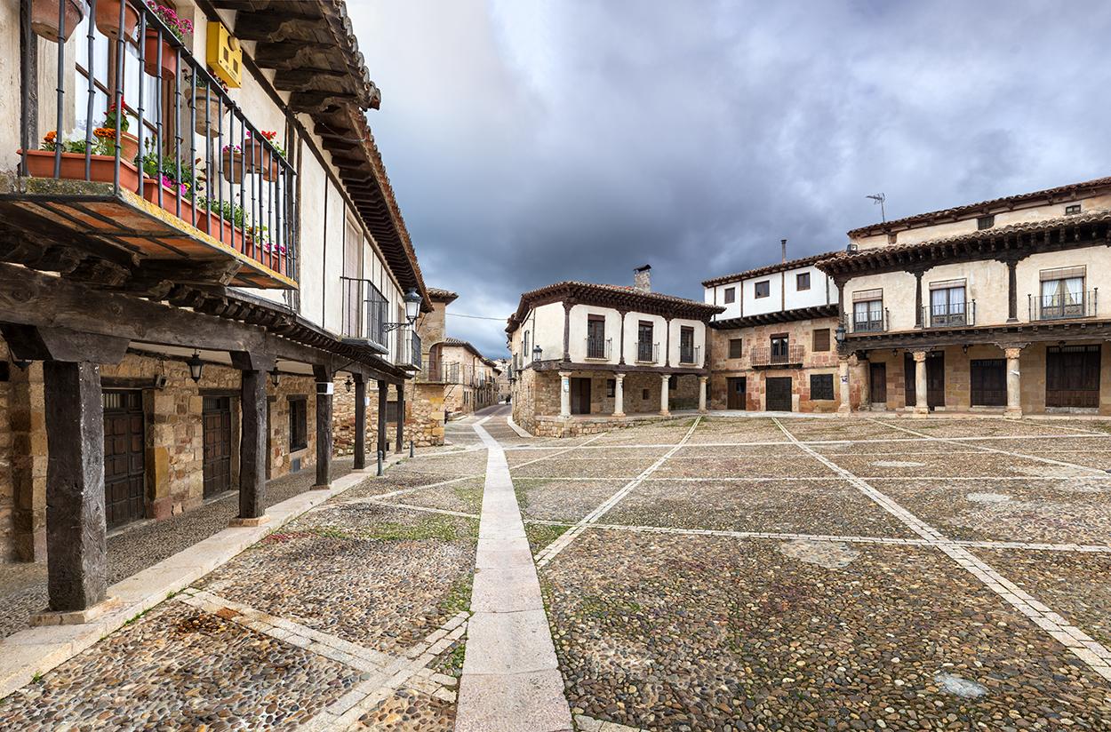
{"label": "cloudy grey-blue sky above the rooftops", "polygon": [[[348,0],[426,282],[700,282],[1111,174],[1111,4]],[[449,318],[490,355],[503,323]]]}

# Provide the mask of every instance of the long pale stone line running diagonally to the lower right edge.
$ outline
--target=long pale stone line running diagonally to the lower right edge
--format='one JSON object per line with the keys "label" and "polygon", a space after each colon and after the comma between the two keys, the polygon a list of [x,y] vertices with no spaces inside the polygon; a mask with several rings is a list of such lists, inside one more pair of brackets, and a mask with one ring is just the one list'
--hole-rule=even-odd
{"label": "long pale stone line running diagonally to the lower right edge", "polygon": [[997,572],[987,562],[981,561],[963,545],[950,541],[937,529],[925,523],[913,513],[902,508],[893,499],[884,495],[880,491],[869,485],[864,480],[857,478],[852,472],[841,468],[835,462],[819,453],[817,450],[794,439],[794,435],[778,420],[772,420],[775,425],[783,431],[789,440],[794,442],[802,451],[812,458],[851,479],[850,482],[868,495],[872,501],[881,505],[889,513],[907,524],[911,531],[923,539],[934,542],[939,550],[944,552],[950,559],[961,565],[964,570],[980,580],[984,586],[998,594],[1017,611],[1025,615],[1035,625],[1057,639],[1062,645],[1069,649],[1073,655],[1087,663],[1095,673],[1108,681],[1111,681],[1111,651],[1102,643],[1093,640],[1075,625],[1071,625],[1060,614],[1053,612],[1049,606],[1028,594],[1005,576]]}

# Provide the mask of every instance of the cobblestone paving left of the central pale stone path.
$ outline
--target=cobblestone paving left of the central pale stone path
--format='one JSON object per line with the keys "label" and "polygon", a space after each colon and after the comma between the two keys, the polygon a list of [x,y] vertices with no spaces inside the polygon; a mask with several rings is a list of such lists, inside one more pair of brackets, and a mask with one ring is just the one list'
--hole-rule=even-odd
{"label": "cobblestone paving left of the central pale stone path", "polygon": [[0,700],[0,730],[451,730],[484,465],[368,478]]}

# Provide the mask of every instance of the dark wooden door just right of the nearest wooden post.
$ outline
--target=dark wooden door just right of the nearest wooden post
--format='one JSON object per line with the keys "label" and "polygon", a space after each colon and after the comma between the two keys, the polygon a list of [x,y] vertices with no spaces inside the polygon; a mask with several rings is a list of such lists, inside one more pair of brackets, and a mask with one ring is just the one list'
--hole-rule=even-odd
{"label": "dark wooden door just right of the nearest wooden post", "polygon": [[147,515],[141,391],[104,391],[104,519],[109,528]]}

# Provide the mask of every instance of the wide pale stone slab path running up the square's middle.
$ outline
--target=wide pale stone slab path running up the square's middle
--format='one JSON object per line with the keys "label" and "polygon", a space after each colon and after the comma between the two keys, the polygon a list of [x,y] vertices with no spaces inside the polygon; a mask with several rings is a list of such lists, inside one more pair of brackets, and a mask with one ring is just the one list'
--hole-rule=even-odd
{"label": "wide pale stone slab path running up the square's middle", "polygon": [[570,732],[571,711],[506,453],[481,423],[473,427],[488,450],[487,477],[456,731]]}

